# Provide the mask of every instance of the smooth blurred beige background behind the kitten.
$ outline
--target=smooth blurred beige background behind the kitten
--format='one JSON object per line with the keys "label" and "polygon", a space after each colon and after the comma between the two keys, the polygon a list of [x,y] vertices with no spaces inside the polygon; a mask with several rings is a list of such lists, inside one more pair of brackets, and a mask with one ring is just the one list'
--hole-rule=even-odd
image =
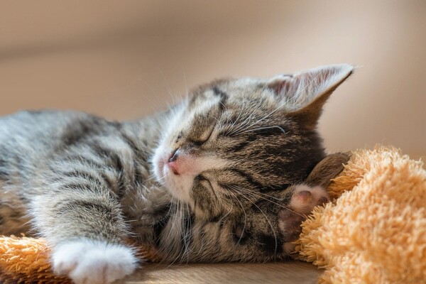
{"label": "smooth blurred beige background behind the kitten", "polygon": [[325,107],[329,151],[426,154],[426,1],[1,1],[0,114],[134,119],[222,76],[359,66]]}

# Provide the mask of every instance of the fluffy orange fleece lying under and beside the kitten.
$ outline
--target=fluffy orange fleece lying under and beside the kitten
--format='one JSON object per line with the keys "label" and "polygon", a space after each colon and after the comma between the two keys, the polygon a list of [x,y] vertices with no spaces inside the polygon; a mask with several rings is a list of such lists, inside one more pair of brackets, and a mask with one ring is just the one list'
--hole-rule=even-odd
{"label": "fluffy orange fleece lying under and beside the kitten", "polygon": [[[426,170],[395,148],[357,150],[328,190],[334,202],[302,223],[300,259],[320,283],[424,283]],[[42,239],[0,238],[0,283],[71,283],[50,271]],[[141,248],[153,261],[155,252]]]}

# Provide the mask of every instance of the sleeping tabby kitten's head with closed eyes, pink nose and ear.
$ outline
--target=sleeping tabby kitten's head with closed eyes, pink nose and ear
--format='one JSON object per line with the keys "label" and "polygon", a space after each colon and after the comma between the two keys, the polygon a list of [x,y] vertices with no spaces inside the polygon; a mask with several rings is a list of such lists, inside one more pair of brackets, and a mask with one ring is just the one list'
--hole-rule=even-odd
{"label": "sleeping tabby kitten's head with closed eyes, pink nose and ear", "polygon": [[195,89],[170,111],[152,160],[158,182],[205,219],[300,182],[324,158],[322,106],[352,70],[329,65]]}

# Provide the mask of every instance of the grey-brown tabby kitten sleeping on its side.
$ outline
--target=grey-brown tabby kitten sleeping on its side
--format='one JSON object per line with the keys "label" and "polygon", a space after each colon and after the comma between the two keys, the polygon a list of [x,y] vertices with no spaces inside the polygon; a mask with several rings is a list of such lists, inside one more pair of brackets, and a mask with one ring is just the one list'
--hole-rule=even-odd
{"label": "grey-brown tabby kitten sleeping on its side", "polygon": [[0,232],[43,236],[55,272],[77,284],[132,273],[129,242],[170,262],[284,259],[302,219],[327,200],[313,186],[321,179],[297,184],[324,158],[317,120],[352,70],[214,81],[138,121],[5,116]]}

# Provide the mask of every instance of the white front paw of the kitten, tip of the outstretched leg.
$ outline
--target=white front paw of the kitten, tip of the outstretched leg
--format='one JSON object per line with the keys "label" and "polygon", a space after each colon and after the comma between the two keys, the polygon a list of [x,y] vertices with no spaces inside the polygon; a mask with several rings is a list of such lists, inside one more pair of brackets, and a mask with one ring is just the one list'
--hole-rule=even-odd
{"label": "white front paw of the kitten, tip of the outstretched leg", "polygon": [[131,248],[104,241],[70,241],[53,250],[53,271],[76,284],[104,284],[135,271],[138,259]]}

